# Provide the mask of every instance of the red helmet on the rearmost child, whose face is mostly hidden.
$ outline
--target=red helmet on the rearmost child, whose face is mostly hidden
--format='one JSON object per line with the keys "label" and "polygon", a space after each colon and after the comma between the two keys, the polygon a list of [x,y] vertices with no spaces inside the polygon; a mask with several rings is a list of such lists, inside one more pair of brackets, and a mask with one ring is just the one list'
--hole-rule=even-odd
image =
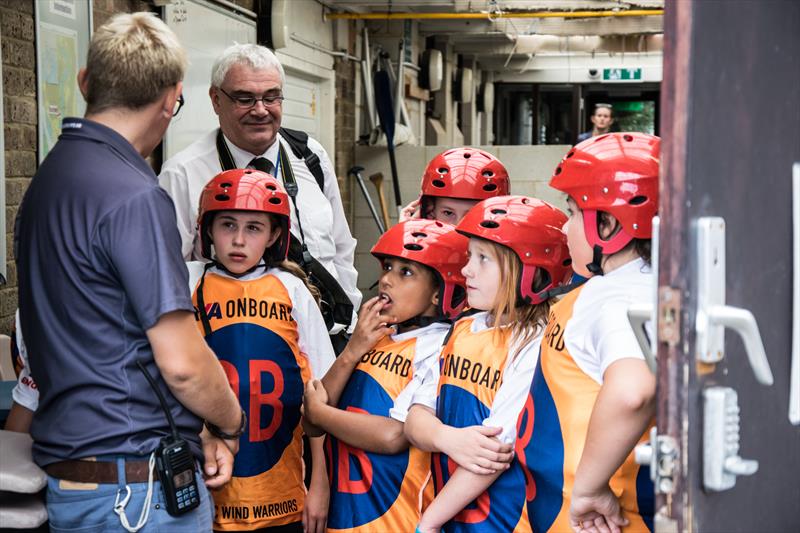
{"label": "red helmet on the rearmost child, whose face is mostly hidden", "polygon": [[485,200],[508,194],[508,171],[495,156],[476,148],[453,148],[437,155],[422,175],[422,212],[429,198]]}

